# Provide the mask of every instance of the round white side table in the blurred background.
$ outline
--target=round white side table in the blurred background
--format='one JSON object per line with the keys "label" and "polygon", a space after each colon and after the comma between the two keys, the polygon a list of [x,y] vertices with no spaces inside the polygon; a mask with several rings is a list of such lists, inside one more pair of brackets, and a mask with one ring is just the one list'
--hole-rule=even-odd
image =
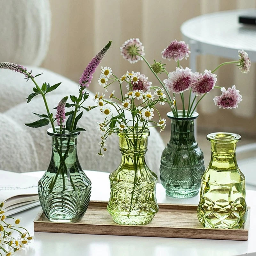
{"label": "round white side table in the blurred background", "polygon": [[230,59],[238,58],[238,50],[246,51],[256,62],[256,26],[238,23],[240,14],[255,13],[255,9],[232,10],[204,14],[184,22],[183,40],[190,46],[190,68],[196,71],[196,56],[212,54]]}

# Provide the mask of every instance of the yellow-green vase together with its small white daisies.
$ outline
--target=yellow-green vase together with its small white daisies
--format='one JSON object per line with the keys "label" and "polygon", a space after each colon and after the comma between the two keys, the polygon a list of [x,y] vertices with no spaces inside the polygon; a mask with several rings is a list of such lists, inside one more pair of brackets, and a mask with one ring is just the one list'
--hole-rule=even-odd
{"label": "yellow-green vase together with its small white daisies", "polygon": [[[122,154],[120,165],[109,175],[111,194],[107,210],[118,224],[143,225],[158,211],[157,176],[145,161],[148,128],[164,130],[166,119],[160,117],[156,105],[168,102],[174,107],[174,100],[168,101],[163,89],[152,86],[148,77],[140,72],[127,71],[119,79],[111,68],[102,67],[99,84],[107,91],[114,82],[120,86],[121,98],[115,96],[115,91],[109,97],[99,93],[94,97],[100,113],[105,116],[99,123],[102,135],[98,155],[104,156],[106,140],[113,133],[119,137]],[[159,116],[158,122],[152,120],[155,113]]]}

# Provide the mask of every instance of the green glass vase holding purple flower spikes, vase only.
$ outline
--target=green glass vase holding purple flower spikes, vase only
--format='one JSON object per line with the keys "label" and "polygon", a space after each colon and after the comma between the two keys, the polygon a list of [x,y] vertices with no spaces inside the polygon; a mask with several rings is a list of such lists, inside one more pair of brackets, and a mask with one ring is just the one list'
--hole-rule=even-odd
{"label": "green glass vase holding purple flower spikes, vase only", "polygon": [[[59,128],[56,128],[58,130]],[[44,214],[51,221],[76,222],[82,219],[91,195],[91,181],[79,164],[76,144],[80,132],[52,136],[52,157],[38,182],[38,195]]]}

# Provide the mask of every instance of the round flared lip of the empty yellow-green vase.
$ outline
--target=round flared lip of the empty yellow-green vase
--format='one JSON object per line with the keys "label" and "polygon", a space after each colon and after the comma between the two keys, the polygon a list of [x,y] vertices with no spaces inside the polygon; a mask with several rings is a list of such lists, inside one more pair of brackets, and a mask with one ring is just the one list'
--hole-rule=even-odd
{"label": "round flared lip of the empty yellow-green vase", "polygon": [[236,143],[241,136],[233,132],[212,132],[206,136],[207,140],[215,143]]}

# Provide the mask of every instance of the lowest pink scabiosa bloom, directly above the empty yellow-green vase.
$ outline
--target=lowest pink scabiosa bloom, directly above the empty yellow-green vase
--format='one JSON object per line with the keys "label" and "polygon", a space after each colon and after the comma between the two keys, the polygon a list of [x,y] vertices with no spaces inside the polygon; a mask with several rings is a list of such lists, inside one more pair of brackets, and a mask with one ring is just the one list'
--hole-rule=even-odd
{"label": "lowest pink scabiosa bloom, directly above the empty yellow-green vase", "polygon": [[221,95],[213,98],[215,105],[220,108],[237,108],[242,101],[242,95],[236,90],[236,85],[233,85],[232,88],[229,87],[227,90],[222,87],[220,91]]}

